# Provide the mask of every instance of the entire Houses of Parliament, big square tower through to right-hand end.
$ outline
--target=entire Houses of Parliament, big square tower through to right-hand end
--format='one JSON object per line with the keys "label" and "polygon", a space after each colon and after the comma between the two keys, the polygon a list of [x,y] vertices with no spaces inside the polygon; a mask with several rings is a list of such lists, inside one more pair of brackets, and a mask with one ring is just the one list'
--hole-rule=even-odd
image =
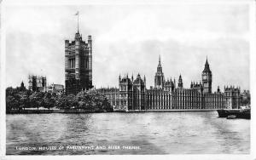
{"label": "entire Houses of Parliament, big square tower through to right-hand end", "polygon": [[[92,85],[92,40],[82,40],[79,29],[74,40],[65,41],[65,93],[78,94],[82,90],[93,89]],[[212,93],[212,71],[208,60],[201,73],[201,82],[183,88],[183,78],[166,79],[159,57],[154,75],[154,87],[146,88],[146,77],[119,76],[119,88],[96,89],[105,95],[114,109],[123,111],[167,111],[239,108],[240,88],[218,88]]]}

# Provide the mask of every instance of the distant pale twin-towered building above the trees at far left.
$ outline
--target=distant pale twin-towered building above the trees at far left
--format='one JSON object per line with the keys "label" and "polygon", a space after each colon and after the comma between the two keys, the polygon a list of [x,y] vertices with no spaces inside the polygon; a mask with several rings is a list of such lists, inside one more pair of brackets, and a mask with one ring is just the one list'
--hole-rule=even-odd
{"label": "distant pale twin-towered building above the trees at far left", "polygon": [[46,77],[29,75],[28,89],[32,91],[47,92]]}

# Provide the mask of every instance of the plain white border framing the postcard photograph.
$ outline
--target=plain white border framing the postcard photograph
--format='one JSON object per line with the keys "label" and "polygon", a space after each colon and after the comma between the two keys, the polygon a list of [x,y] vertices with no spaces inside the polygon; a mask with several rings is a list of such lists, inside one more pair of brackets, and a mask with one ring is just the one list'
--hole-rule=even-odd
{"label": "plain white border framing the postcard photograph", "polygon": [[[0,0],[1,2],[1,0]],[[84,156],[5,156],[5,144],[6,144],[6,123],[5,123],[5,26],[4,26],[4,18],[5,18],[5,6],[9,5],[86,5],[86,4],[102,4],[102,5],[113,5],[113,4],[119,4],[119,5],[126,5],[126,4],[194,4],[194,3],[207,3],[207,4],[216,4],[216,3],[225,3],[225,4],[249,4],[250,5],[250,92],[251,92],[251,106],[252,106],[252,119],[251,119],[251,151],[250,154],[202,154],[202,155],[194,155],[194,154],[186,154],[186,155],[84,155]],[[253,151],[256,151],[256,119],[255,117],[255,84],[256,82],[256,12],[255,12],[255,1],[254,0],[224,0],[224,1],[214,1],[214,0],[196,0],[196,1],[189,1],[189,0],[59,0],[59,1],[53,1],[53,0],[5,0],[1,3],[1,63],[0,63],[0,159],[69,159],[69,158],[76,158],[76,159],[102,159],[102,158],[109,158],[109,159],[131,159],[131,158],[145,158],[148,160],[157,158],[157,159],[185,159],[185,160],[197,160],[197,159],[207,159],[207,160],[217,160],[217,159],[256,159],[256,153]],[[209,144],[210,145],[210,144]]]}

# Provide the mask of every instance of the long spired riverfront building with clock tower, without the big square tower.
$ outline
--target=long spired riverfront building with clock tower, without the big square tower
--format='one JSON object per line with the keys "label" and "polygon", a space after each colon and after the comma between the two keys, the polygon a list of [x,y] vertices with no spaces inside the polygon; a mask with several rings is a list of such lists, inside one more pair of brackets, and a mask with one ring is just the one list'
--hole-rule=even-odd
{"label": "long spired riverfront building with clock tower, without the big square tower", "polygon": [[208,60],[201,72],[201,82],[183,88],[183,78],[166,79],[161,61],[154,75],[154,87],[146,88],[146,77],[119,76],[118,88],[97,89],[104,94],[117,110],[125,111],[168,111],[168,110],[215,110],[239,108],[241,105],[240,88],[224,87],[224,93],[212,93],[212,71]]}

